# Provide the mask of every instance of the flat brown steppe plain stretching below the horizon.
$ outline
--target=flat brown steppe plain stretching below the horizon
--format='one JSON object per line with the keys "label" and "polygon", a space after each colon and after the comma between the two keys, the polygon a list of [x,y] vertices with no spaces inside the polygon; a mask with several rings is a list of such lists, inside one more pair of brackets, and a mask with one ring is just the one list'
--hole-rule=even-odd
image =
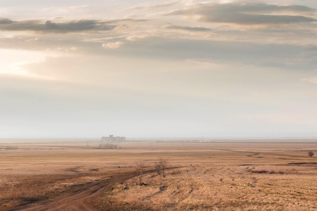
{"label": "flat brown steppe plain stretching below the horizon", "polygon": [[187,141],[3,141],[0,210],[317,210],[315,140]]}

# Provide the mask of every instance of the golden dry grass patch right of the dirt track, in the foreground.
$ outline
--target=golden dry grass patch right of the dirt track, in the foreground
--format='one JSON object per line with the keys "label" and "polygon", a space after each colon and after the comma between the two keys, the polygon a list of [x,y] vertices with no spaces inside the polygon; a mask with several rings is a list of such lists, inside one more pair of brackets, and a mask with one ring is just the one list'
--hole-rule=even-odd
{"label": "golden dry grass patch right of the dirt track, in the foreground", "polygon": [[317,179],[310,169],[277,167],[288,173],[255,175],[245,166],[182,167],[180,174],[170,171],[166,178],[147,175],[147,186],[135,180],[117,184],[103,200],[127,210],[316,210]]}

